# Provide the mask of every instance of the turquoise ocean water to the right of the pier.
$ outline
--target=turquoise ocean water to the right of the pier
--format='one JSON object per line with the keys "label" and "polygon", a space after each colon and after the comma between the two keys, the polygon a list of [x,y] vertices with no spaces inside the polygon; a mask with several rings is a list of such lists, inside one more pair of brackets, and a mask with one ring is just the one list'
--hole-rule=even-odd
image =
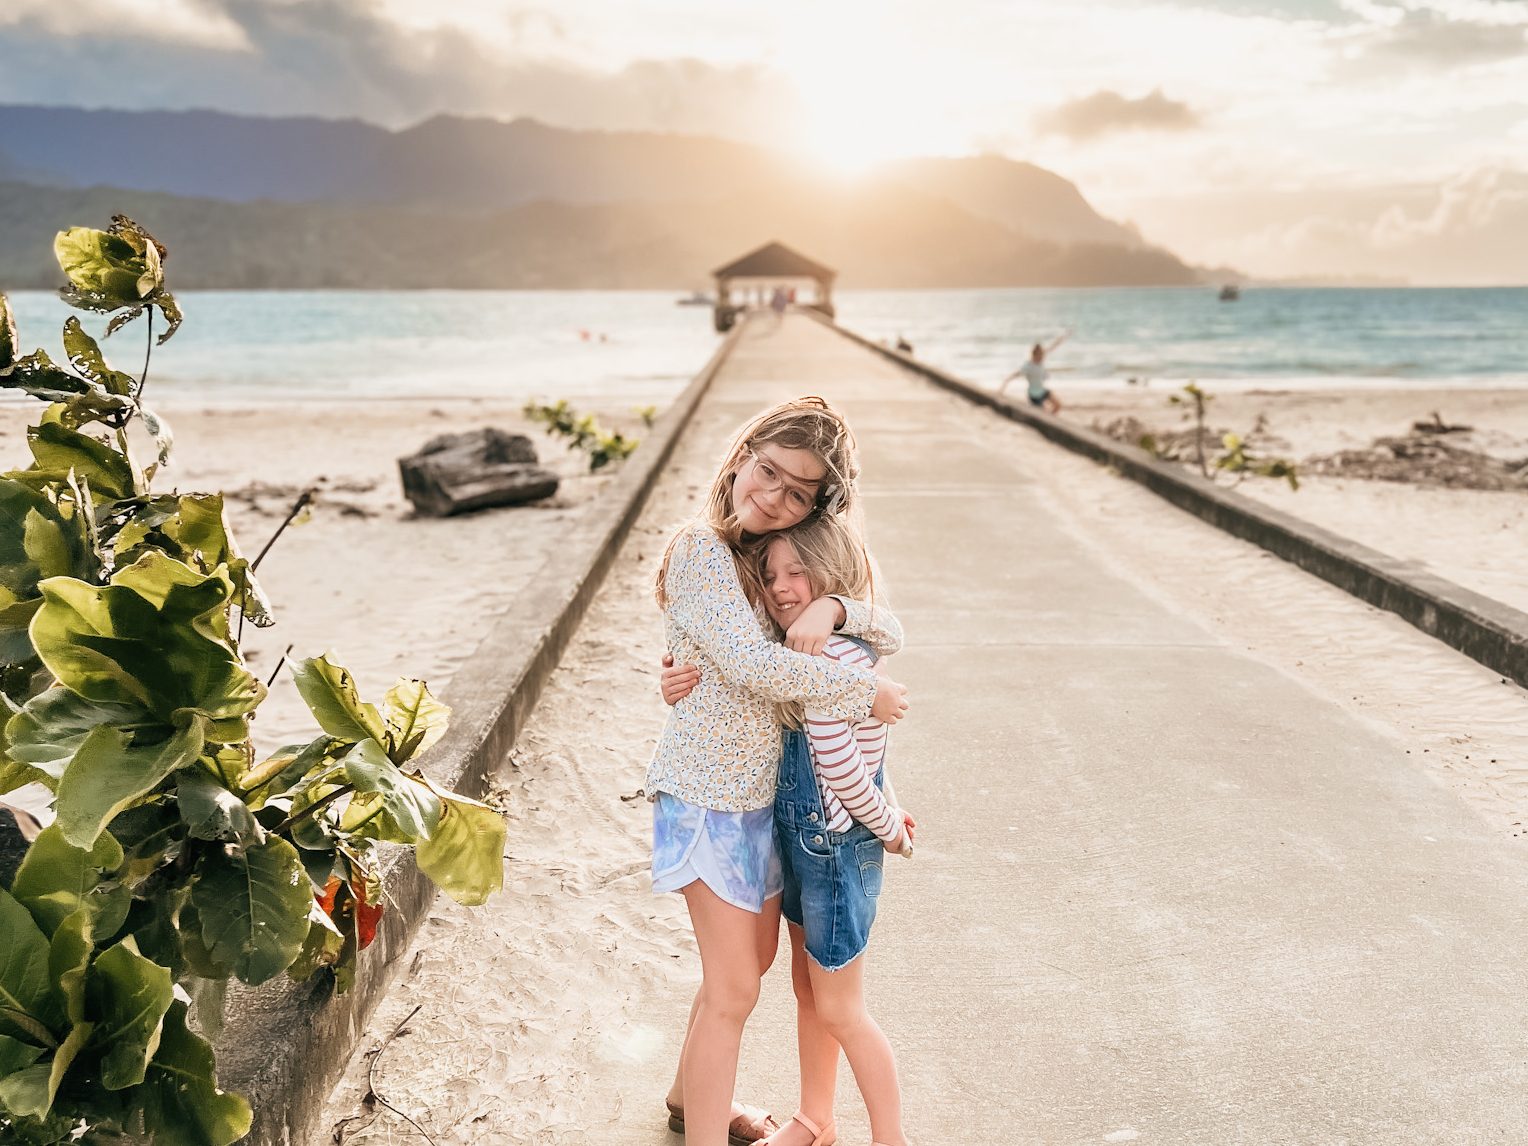
{"label": "turquoise ocean water to the right of the pier", "polygon": [[1528,287],[1210,287],[847,292],[839,321],[902,333],[918,358],[995,385],[1030,344],[1071,329],[1057,384],[1128,379],[1238,387],[1528,387]]}

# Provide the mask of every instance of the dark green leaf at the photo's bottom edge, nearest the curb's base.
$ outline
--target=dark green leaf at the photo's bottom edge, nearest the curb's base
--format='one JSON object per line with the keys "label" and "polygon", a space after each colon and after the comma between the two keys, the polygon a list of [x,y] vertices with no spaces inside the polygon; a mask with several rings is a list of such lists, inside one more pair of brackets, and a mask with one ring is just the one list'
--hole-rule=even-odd
{"label": "dark green leaf at the photo's bottom edge, nearest the curb's base", "polygon": [[170,1004],[134,1106],[156,1128],[154,1146],[231,1146],[249,1134],[249,1103],[217,1088],[212,1048],[186,1027],[186,1010]]}

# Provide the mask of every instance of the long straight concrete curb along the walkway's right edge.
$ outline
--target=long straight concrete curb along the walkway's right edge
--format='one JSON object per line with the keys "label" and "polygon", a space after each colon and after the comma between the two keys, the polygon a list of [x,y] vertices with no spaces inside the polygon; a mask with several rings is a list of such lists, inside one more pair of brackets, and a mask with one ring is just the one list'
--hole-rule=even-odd
{"label": "long straight concrete curb along the walkway's right edge", "polygon": [[1360,601],[1395,613],[1423,633],[1528,688],[1528,613],[1433,576],[1415,562],[1400,561],[1232,489],[1215,486],[1198,474],[1158,461],[1143,449],[1068,425],[1033,406],[1008,402],[990,390],[872,342],[825,318],[817,321],[969,402],[1022,422],[1056,445],[1112,466],[1180,509],[1262,545]]}

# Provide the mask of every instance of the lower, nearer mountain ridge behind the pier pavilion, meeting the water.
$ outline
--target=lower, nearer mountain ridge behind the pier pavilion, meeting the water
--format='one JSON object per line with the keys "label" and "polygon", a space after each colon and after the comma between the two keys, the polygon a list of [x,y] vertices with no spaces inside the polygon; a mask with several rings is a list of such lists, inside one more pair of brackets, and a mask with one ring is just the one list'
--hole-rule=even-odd
{"label": "lower, nearer mountain ridge behind the pier pavilion, meeting the water", "polygon": [[0,183],[0,289],[57,286],[53,234],[116,212],[170,248],[182,289],[691,287],[770,238],[836,267],[851,289],[1198,281],[1164,251],[1036,240],[895,183],[471,215],[12,182]]}

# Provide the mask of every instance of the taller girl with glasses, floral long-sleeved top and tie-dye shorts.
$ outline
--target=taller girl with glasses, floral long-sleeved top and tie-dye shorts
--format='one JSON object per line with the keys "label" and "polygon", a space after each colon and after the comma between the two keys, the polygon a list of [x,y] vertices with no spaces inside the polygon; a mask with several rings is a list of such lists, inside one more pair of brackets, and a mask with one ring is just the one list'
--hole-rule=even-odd
{"label": "taller girl with glasses, floral long-sleeved top and tie-dye shorts", "polygon": [[906,689],[874,669],[813,656],[834,633],[895,652],[900,626],[885,610],[822,597],[799,610],[784,645],[755,611],[764,539],[857,512],[857,477],[854,437],[821,397],[767,410],[740,431],[698,518],[674,535],[659,567],[669,654],[691,666],[694,688],[669,711],[645,784],[652,891],[685,897],[700,946],[700,990],[668,1096],[669,1128],[689,1146],[752,1143],[781,1129],[732,1097],[743,1027],[779,943],[776,706],[801,701],[854,724],[892,724],[908,707]]}

